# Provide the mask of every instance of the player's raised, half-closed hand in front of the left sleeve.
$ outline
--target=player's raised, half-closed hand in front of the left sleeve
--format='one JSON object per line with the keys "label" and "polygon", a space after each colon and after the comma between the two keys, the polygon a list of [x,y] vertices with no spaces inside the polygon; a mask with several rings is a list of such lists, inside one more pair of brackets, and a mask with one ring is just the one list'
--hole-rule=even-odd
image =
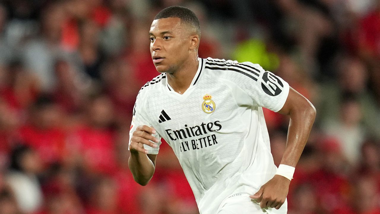
{"label": "player's raised, half-closed hand in front of the left sleeve", "polygon": [[156,130],[149,126],[138,126],[137,129],[133,132],[131,137],[131,143],[129,144],[129,150],[131,152],[141,152],[147,154],[148,151],[144,149],[144,144],[149,145],[150,147],[157,148],[157,144],[154,144],[150,141],[158,143],[159,140],[152,136],[155,134]]}

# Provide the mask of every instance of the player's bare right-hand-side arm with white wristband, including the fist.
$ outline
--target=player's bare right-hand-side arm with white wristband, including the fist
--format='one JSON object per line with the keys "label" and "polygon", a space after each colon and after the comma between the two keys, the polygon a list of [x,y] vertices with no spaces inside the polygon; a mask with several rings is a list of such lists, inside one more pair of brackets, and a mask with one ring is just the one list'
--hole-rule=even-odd
{"label": "player's bare right-hand-side arm with white wristband, including the fist", "polygon": [[[290,88],[285,104],[279,113],[290,116],[287,144],[280,168],[285,169],[285,171],[290,169],[290,174],[292,174],[291,170],[296,167],[309,137],[316,111],[304,96]],[[261,208],[279,209],[285,202],[291,177],[287,178],[286,175],[284,177],[279,174],[281,173],[276,173],[271,180],[261,186],[257,193],[250,196],[260,203]]]}

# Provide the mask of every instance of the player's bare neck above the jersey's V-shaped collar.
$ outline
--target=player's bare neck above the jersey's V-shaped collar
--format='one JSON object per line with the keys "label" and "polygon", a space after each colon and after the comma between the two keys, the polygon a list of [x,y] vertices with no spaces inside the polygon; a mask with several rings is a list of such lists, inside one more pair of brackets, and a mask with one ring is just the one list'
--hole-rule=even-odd
{"label": "player's bare neck above the jersey's V-shaped collar", "polygon": [[171,88],[175,92],[183,94],[190,87],[198,66],[198,57],[190,57],[178,70],[168,73],[166,77]]}

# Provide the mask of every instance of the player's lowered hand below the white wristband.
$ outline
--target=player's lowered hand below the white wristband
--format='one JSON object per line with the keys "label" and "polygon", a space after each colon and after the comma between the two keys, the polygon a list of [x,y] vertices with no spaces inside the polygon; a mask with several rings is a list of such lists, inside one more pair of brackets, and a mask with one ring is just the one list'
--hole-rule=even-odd
{"label": "player's lowered hand below the white wristband", "polygon": [[286,177],[275,175],[266,184],[261,186],[255,195],[249,197],[260,203],[261,208],[271,207],[280,209],[288,195],[289,184],[290,180]]}

